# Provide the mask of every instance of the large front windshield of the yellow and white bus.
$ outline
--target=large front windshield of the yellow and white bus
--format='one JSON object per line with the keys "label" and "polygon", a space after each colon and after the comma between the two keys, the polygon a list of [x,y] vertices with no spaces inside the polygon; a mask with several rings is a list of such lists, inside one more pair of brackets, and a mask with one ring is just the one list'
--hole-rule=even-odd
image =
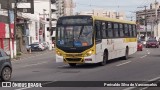
{"label": "large front windshield of the yellow and white bus", "polygon": [[61,47],[85,47],[93,44],[93,26],[58,26],[56,43]]}

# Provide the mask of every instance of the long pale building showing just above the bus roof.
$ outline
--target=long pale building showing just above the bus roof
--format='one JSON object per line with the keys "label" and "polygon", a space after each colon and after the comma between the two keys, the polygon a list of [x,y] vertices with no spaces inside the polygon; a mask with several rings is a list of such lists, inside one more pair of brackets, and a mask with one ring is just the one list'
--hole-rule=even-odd
{"label": "long pale building showing just above the bus roof", "polygon": [[114,12],[114,11],[107,11],[103,9],[94,9],[92,11],[82,11],[77,14],[78,15],[94,15],[94,16],[102,16],[102,17],[117,18],[117,19],[126,18],[124,12]]}

